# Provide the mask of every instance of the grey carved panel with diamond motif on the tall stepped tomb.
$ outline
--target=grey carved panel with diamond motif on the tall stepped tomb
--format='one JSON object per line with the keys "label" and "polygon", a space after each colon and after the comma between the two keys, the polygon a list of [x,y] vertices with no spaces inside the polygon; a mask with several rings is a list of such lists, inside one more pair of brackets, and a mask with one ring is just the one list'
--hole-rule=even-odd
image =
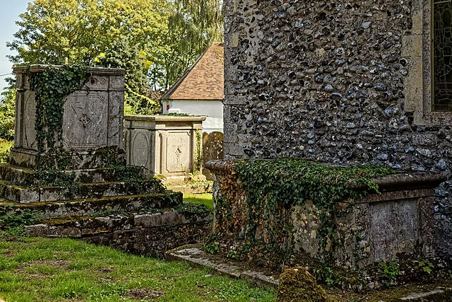
{"label": "grey carved panel with diamond motif on the tall stepped tomb", "polygon": [[72,93],[64,105],[64,147],[87,150],[107,146],[107,121],[107,92]]}

